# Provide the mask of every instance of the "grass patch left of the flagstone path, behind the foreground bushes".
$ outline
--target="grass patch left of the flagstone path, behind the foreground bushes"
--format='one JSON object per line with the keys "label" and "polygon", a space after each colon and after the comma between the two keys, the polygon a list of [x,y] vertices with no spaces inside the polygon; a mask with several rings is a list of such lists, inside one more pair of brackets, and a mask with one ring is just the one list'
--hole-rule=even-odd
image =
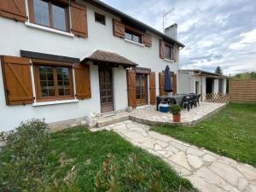
{"label": "grass patch left of the flagstone path, behind the foreground bushes", "polygon": [[[94,191],[96,174],[102,169],[102,163],[108,159],[109,153],[113,154],[120,164],[127,160],[129,155],[137,154],[138,159],[145,162],[148,168],[160,171],[162,184],[170,191],[178,191],[181,186],[182,191],[195,191],[188,180],[179,177],[163,160],[132,146],[113,131],[90,132],[84,127],[72,128],[52,133],[49,145],[51,152],[48,161],[52,165],[47,171],[49,176],[55,174],[56,177],[64,178],[75,166],[78,171],[75,182],[84,192]],[[8,152],[0,154],[0,162],[8,159]]]}

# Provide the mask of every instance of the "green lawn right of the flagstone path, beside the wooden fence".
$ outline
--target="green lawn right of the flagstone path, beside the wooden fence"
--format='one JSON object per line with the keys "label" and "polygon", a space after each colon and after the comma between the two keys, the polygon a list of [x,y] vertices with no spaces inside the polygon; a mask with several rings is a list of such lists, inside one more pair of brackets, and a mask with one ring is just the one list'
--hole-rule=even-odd
{"label": "green lawn right of the flagstone path, beside the wooden fence", "polygon": [[230,103],[192,127],[152,127],[171,137],[256,166],[256,103]]}

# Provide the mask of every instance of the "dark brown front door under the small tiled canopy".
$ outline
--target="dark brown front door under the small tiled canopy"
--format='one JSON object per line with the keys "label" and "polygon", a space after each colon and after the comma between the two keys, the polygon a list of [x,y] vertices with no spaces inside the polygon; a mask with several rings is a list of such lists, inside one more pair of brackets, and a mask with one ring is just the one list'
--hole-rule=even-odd
{"label": "dark brown front door under the small tiled canopy", "polygon": [[113,77],[111,67],[99,67],[102,113],[113,111]]}

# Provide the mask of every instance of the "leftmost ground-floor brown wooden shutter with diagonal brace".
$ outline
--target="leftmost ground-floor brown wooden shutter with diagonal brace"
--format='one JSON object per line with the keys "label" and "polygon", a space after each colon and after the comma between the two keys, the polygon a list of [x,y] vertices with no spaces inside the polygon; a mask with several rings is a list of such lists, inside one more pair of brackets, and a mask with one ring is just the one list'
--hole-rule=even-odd
{"label": "leftmost ground-floor brown wooden shutter with diagonal brace", "polygon": [[25,105],[34,102],[29,59],[3,56],[2,67],[7,105]]}

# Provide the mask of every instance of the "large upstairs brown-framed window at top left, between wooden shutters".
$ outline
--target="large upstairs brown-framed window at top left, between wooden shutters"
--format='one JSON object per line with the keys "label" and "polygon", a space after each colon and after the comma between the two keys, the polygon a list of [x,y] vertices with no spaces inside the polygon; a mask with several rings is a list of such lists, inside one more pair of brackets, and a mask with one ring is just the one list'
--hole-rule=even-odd
{"label": "large upstairs brown-framed window at top left, between wooden shutters", "polygon": [[55,1],[29,0],[30,20],[41,26],[68,31],[68,6]]}

